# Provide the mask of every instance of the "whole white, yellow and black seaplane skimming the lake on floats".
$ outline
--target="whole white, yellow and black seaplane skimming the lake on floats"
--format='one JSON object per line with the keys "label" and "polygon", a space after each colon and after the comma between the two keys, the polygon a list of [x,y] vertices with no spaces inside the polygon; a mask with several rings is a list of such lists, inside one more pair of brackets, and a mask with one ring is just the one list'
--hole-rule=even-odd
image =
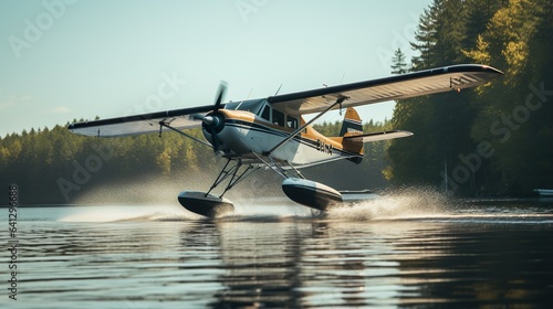
{"label": "whole white, yellow and black seaplane skimming the lake on floats", "polygon": [[[487,65],[461,64],[227,103],[223,99],[228,86],[221,83],[213,105],[74,122],[69,129],[100,138],[144,134],[159,134],[161,137],[165,131],[175,131],[212,148],[217,157],[226,159],[226,163],[211,188],[207,192],[184,191],[178,195],[185,209],[202,216],[232,213],[234,206],[223,195],[260,169],[281,175],[282,191],[292,201],[324,213],[345,203],[344,192],[305,179],[300,172],[302,168],[336,160],[359,163],[364,143],[413,135],[405,130],[364,132],[355,107],[460,92],[483,85],[502,74]],[[315,120],[336,109],[344,115],[340,136],[327,137],[313,129]],[[305,115],[314,116],[305,120]],[[205,139],[188,131],[199,127]],[[213,190],[220,193],[213,194]]]}

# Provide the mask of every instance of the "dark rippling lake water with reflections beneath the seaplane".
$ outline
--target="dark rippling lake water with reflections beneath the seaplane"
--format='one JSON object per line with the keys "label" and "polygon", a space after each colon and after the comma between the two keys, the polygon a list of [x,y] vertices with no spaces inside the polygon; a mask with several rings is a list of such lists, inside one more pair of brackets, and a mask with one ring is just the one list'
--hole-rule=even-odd
{"label": "dark rippling lake water with reflections beneath the seaplane", "polygon": [[1,308],[553,303],[551,201],[404,192],[327,217],[250,201],[215,221],[178,204],[19,207],[17,227],[18,300],[4,249]]}

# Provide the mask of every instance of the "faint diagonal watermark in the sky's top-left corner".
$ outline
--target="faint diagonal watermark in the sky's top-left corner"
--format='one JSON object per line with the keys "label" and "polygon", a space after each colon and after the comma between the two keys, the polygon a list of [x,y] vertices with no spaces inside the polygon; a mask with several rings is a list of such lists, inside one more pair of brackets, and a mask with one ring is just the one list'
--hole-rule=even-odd
{"label": "faint diagonal watermark in the sky's top-left corner", "polygon": [[8,42],[17,58],[21,58],[23,50],[30,50],[34,43],[39,42],[44,32],[54,26],[56,20],[65,15],[67,6],[75,4],[76,0],[44,0],[42,7],[44,11],[40,12],[34,20],[24,19],[23,35],[10,35]]}

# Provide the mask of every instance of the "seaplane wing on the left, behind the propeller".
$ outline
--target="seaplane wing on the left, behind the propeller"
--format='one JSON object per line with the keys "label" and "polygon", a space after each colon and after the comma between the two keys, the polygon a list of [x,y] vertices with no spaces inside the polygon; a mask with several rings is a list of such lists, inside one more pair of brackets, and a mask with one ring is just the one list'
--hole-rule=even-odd
{"label": "seaplane wing on the left, behind the propeller", "polygon": [[[160,124],[170,125],[176,129],[188,129],[201,126],[201,120],[195,115],[206,115],[213,106],[173,109],[111,119],[101,119],[71,124],[69,129],[74,134],[95,137],[121,137],[150,132],[159,132]],[[168,130],[163,127],[163,130]]]}

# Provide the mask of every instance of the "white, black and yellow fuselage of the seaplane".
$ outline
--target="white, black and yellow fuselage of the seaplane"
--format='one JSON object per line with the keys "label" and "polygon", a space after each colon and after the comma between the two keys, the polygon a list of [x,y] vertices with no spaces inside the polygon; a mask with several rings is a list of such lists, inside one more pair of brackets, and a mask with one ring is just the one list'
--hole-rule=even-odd
{"label": "white, black and yellow fuselage of the seaplane", "polygon": [[[240,157],[262,163],[260,158],[267,157],[275,146],[305,125],[302,116],[286,115],[262,102],[257,107],[251,104],[247,107],[241,105],[236,107],[237,109],[219,109],[217,113],[208,114],[206,118],[212,118],[210,121],[216,121],[217,125],[210,127],[204,124],[202,128],[204,136],[211,145],[219,142],[219,146],[213,147],[225,157]],[[347,118],[348,115],[357,116],[357,113],[353,108],[347,109],[346,120],[355,122],[348,128],[348,132],[362,132],[363,127],[358,116],[354,119]],[[213,130],[217,134],[215,139]],[[361,161],[363,142],[347,141],[344,137],[326,137],[312,126],[305,126],[301,132],[270,154],[273,160],[288,162],[298,169],[340,159]]]}

